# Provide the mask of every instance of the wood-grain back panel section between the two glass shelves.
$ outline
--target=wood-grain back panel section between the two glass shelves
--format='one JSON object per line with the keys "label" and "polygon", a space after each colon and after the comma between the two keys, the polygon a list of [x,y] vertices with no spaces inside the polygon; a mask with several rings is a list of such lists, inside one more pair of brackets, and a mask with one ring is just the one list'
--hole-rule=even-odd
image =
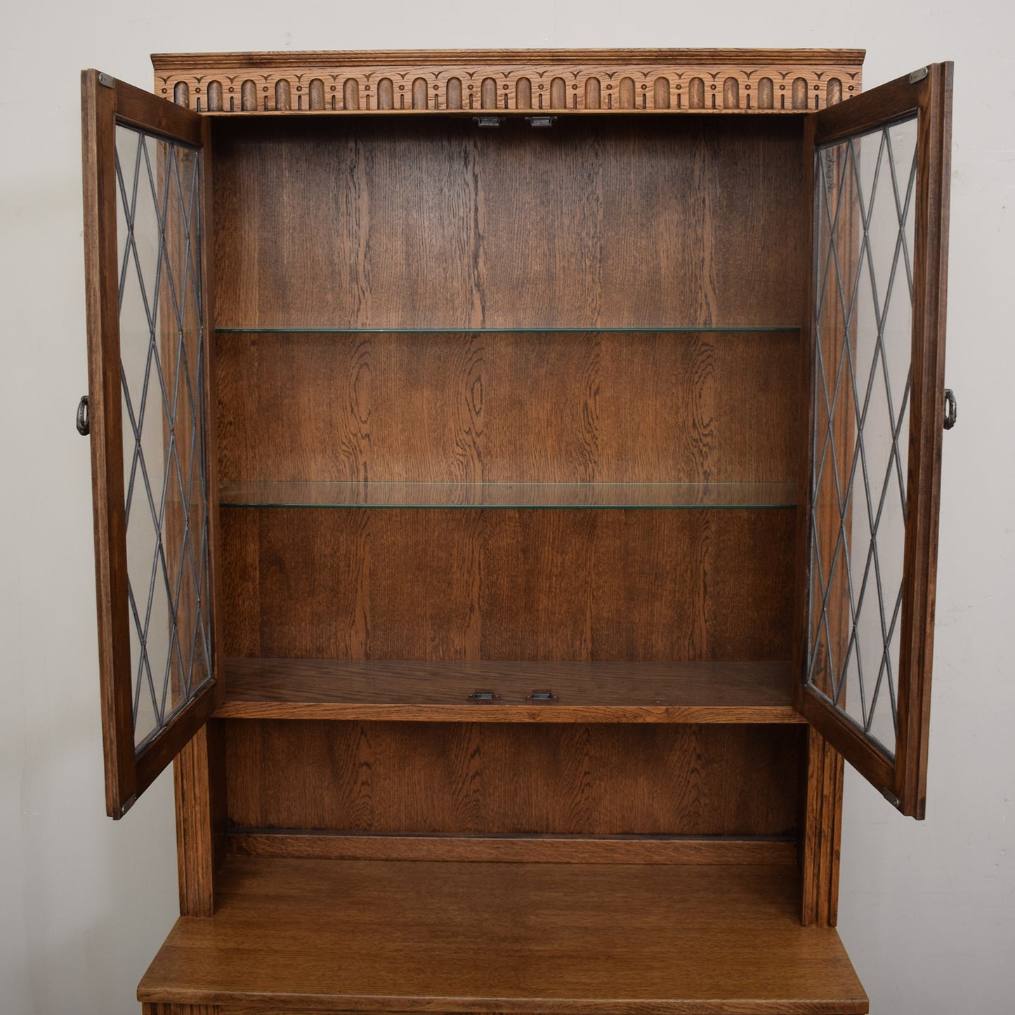
{"label": "wood-grain back panel section between the two glass shelves", "polygon": [[223,480],[790,482],[799,335],[217,336]]}

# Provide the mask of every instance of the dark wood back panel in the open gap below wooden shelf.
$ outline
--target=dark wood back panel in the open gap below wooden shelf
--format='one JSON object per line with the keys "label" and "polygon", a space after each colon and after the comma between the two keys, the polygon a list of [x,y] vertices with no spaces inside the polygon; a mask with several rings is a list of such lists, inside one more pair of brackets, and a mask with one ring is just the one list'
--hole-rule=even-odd
{"label": "dark wood back panel in the open gap below wooden shelf", "polygon": [[796,726],[225,720],[233,826],[787,835]]}

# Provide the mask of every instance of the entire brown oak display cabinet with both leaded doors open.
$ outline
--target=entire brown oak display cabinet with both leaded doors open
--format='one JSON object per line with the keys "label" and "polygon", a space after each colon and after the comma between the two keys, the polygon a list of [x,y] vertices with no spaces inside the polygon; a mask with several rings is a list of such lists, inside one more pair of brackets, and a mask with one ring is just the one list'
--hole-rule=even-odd
{"label": "entire brown oak display cabinet with both leaded doors open", "polygon": [[868,1010],[842,758],[923,816],[954,400],[951,65],[862,58],[84,72],[148,1015]]}

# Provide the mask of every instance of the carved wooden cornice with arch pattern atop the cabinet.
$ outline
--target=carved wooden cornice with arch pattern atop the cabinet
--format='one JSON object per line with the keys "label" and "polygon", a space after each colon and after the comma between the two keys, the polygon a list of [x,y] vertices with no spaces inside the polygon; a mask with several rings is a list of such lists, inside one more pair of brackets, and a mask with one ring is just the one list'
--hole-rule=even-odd
{"label": "carved wooden cornice with arch pattern atop the cabinet", "polygon": [[864,50],[156,53],[200,113],[804,113],[861,91]]}

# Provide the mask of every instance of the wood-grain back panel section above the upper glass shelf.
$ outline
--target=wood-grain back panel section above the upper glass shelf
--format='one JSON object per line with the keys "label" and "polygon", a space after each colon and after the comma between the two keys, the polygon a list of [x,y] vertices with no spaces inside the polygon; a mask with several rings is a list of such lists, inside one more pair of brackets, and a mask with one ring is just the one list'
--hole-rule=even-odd
{"label": "wood-grain back panel section above the upper glass shelf", "polygon": [[796,120],[343,124],[216,121],[218,325],[800,323]]}

